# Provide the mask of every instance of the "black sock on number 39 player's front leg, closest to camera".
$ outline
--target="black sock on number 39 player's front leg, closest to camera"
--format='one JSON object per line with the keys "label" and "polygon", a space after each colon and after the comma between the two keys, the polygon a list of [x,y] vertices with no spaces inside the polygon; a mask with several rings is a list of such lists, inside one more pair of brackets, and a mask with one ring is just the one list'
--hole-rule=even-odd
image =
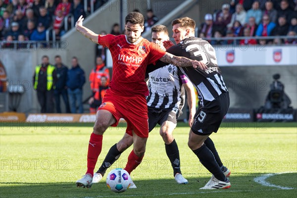
{"label": "black sock on number 39 player's front leg, closest to camera", "polygon": [[223,171],[221,170],[220,166],[216,162],[212,152],[209,148],[206,147],[205,144],[202,147],[193,150],[193,152],[198,156],[201,164],[211,172],[214,177],[220,181],[227,182],[228,179],[225,177]]}

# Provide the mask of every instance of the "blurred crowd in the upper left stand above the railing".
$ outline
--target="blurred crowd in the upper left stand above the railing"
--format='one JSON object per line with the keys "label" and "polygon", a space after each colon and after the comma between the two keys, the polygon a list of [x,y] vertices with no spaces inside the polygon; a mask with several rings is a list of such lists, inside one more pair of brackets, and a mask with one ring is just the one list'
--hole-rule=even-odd
{"label": "blurred crowd in the upper left stand above the railing", "polygon": [[[99,8],[108,0],[93,0]],[[45,41],[46,30],[52,27],[56,40],[65,34],[64,18],[72,14],[74,21],[87,13],[84,0],[0,0],[0,41]],[[68,18],[71,25],[71,18]],[[73,24],[74,25],[74,24]],[[5,46],[4,46],[5,47]],[[6,46],[9,47],[9,46]]]}

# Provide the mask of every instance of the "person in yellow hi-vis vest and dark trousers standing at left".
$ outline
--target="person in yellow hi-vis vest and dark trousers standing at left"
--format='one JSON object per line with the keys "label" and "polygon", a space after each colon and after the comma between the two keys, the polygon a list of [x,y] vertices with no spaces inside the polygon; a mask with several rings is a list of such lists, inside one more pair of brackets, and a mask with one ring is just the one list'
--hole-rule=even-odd
{"label": "person in yellow hi-vis vest and dark trousers standing at left", "polygon": [[41,106],[41,113],[53,113],[53,87],[57,79],[55,67],[49,64],[49,56],[42,57],[33,75],[34,89]]}

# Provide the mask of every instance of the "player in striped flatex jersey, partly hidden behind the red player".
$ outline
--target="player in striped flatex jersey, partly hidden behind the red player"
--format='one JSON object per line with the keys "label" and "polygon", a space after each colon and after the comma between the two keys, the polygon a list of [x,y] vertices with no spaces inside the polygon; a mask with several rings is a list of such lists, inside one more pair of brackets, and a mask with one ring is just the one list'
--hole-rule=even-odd
{"label": "player in striped flatex jersey, partly hidden behind the red player", "polygon": [[[151,40],[158,45],[162,45],[163,41],[169,40],[167,28],[163,25],[153,26],[151,28]],[[166,154],[173,168],[174,179],[178,184],[187,184],[188,180],[181,173],[179,149],[173,137],[173,130],[184,106],[184,88],[187,92],[190,108],[189,125],[192,125],[196,112],[194,87],[178,67],[166,64],[159,69],[156,68],[159,68],[159,66],[150,65],[147,69],[147,72],[150,72],[147,76],[149,79],[149,96],[147,98],[149,132],[157,124],[161,126],[160,135],[165,143]],[[112,146],[99,170],[94,174],[93,183],[98,183],[105,174],[106,169],[132,144],[132,134],[126,133],[122,140]],[[130,188],[136,188],[134,182],[131,182]]]}

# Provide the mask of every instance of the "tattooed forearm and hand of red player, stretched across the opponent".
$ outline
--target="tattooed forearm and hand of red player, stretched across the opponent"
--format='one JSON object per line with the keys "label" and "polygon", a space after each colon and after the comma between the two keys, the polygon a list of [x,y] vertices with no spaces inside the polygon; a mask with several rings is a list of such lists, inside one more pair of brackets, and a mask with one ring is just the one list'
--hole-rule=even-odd
{"label": "tattooed forearm and hand of red player, stretched across the opponent", "polygon": [[170,64],[173,64],[178,67],[190,67],[193,66],[194,68],[200,67],[202,70],[206,70],[207,66],[202,62],[198,60],[191,60],[186,57],[182,56],[175,56],[171,53],[166,52],[161,58],[161,61],[167,62]]}

